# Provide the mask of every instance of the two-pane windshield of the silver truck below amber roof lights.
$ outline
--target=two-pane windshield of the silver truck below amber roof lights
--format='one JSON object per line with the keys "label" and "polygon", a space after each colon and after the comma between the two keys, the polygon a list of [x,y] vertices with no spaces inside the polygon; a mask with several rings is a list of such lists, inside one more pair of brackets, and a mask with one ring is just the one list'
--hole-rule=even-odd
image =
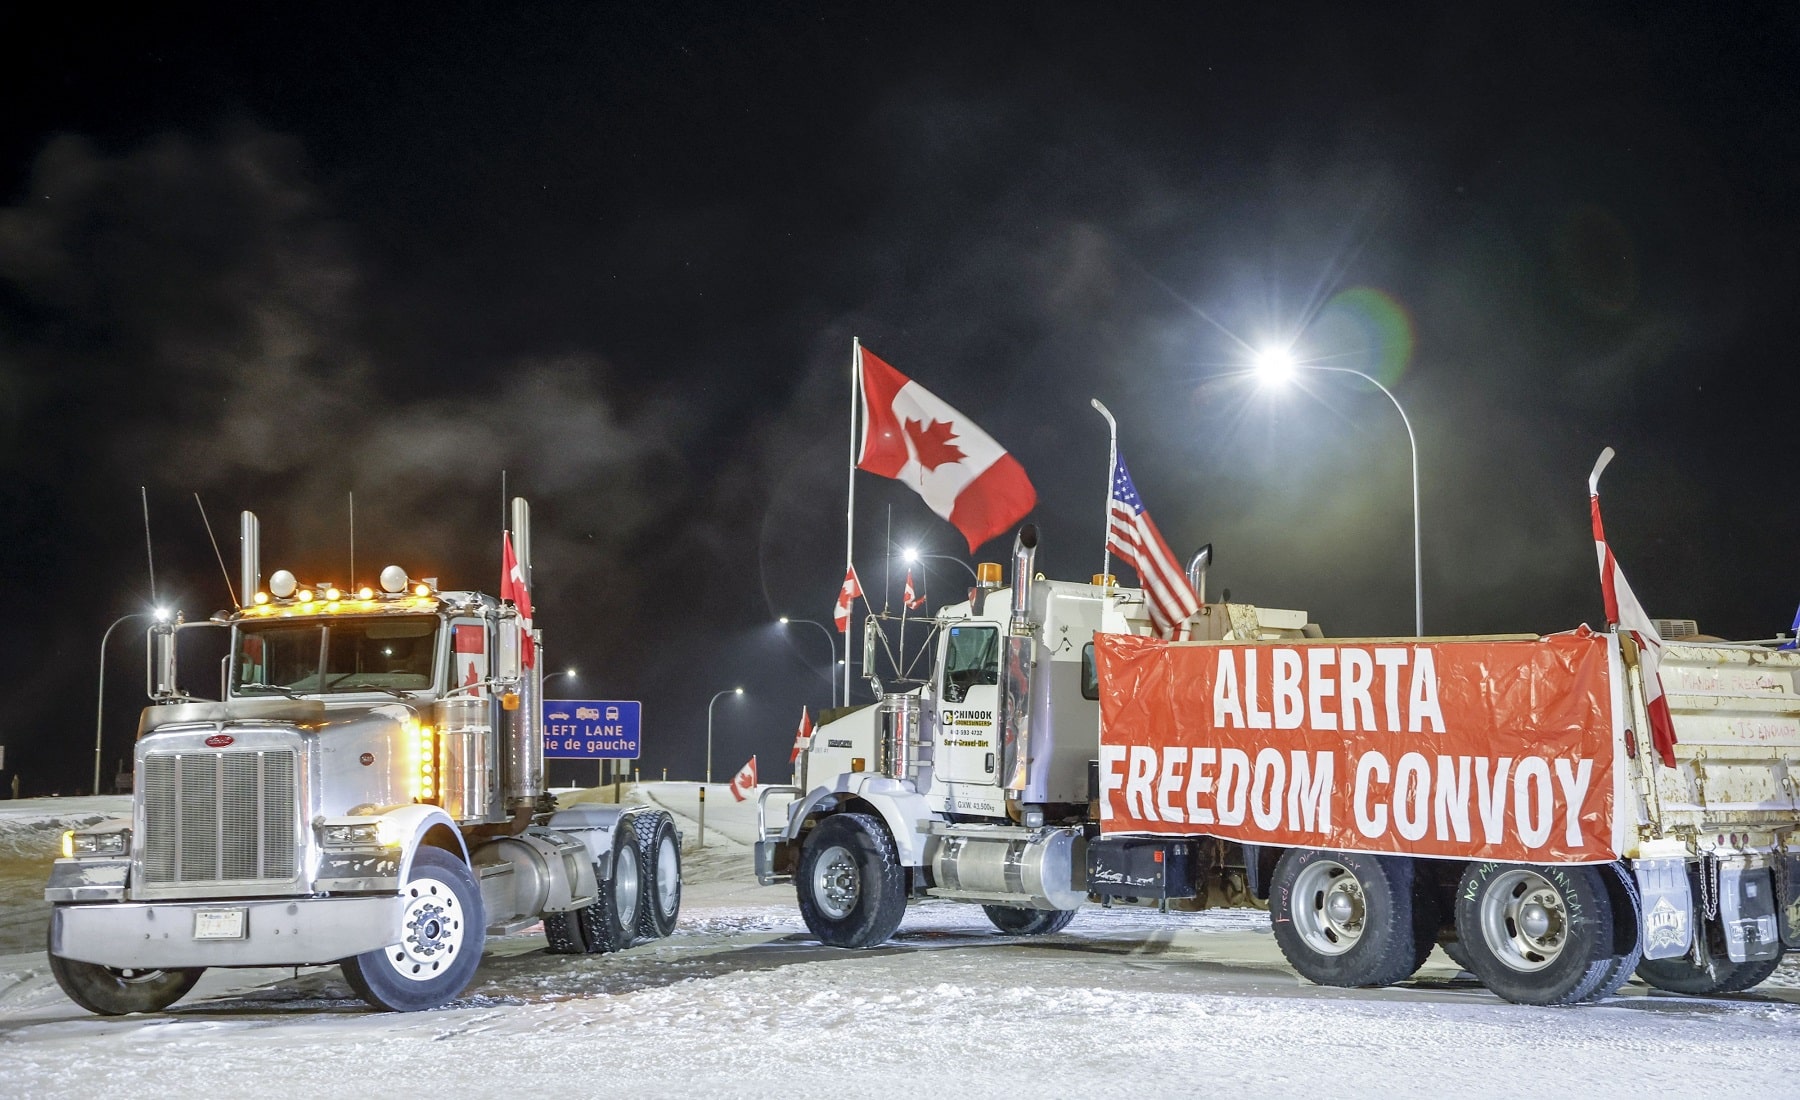
{"label": "two-pane windshield of the silver truck below amber roof lights", "polygon": [[432,686],[436,643],[432,616],[245,623],[232,654],[232,693],[419,691]]}

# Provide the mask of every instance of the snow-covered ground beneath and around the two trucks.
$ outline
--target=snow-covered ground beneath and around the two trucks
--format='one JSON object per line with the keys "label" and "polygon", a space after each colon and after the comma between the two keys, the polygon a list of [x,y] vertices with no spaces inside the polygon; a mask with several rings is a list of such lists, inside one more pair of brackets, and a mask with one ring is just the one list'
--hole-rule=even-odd
{"label": "snow-covered ground beneath and around the two trucks", "polygon": [[875,951],[819,947],[790,888],[751,877],[751,803],[693,785],[626,801],[689,846],[675,936],[608,956],[491,940],[468,994],[380,1014],[337,969],[209,972],[173,1010],[99,1019],[41,947],[63,821],[126,799],[0,803],[0,1095],[392,1096],[1624,1096],[1795,1095],[1800,965],[1753,994],[1629,985],[1598,1006],[1507,1005],[1442,954],[1388,990],[1325,990],[1255,913],[1087,909],[1062,934],[995,934],[929,902]]}

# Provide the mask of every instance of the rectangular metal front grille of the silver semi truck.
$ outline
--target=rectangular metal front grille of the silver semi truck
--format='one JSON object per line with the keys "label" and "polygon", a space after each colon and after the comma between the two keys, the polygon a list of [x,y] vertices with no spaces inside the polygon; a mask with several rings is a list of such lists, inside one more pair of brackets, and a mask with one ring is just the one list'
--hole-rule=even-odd
{"label": "rectangular metal front grille of the silver semi truck", "polygon": [[144,792],[144,882],[288,882],[299,792],[292,749],[155,753]]}

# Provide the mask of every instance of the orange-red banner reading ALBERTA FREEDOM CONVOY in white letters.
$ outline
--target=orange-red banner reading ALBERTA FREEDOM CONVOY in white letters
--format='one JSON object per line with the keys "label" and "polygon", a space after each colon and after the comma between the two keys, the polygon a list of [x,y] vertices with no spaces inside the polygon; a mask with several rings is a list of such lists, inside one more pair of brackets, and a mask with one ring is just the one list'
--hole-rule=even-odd
{"label": "orange-red banner reading ALBERTA FREEDOM CONVOY in white letters", "polygon": [[1170,645],[1094,636],[1100,830],[1597,862],[1607,639]]}

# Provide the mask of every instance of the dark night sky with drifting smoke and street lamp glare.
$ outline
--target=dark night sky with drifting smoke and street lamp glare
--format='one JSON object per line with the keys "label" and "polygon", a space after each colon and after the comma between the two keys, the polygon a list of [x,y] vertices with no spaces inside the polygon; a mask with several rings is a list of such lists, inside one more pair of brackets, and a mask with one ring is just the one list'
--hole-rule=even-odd
{"label": "dark night sky with drifting smoke and street lamp glare", "polygon": [[[250,508],[265,576],[493,592],[502,470],[551,666],[643,700],[677,778],[743,684],[715,778],[785,780],[826,636],[772,623],[830,623],[842,578],[851,337],[1024,464],[1051,576],[1100,569],[1100,398],[1211,598],[1411,634],[1399,414],[1258,389],[1278,342],[1411,418],[1427,632],[1604,621],[1606,445],[1652,616],[1795,618],[1793,5],[369,7],[0,11],[25,794],[90,783],[101,632],[151,601],[139,486],[196,619],[227,591],[194,493],[232,583]],[[857,477],[877,603],[889,545],[967,560]],[[108,776],[139,706],[126,627]]]}

